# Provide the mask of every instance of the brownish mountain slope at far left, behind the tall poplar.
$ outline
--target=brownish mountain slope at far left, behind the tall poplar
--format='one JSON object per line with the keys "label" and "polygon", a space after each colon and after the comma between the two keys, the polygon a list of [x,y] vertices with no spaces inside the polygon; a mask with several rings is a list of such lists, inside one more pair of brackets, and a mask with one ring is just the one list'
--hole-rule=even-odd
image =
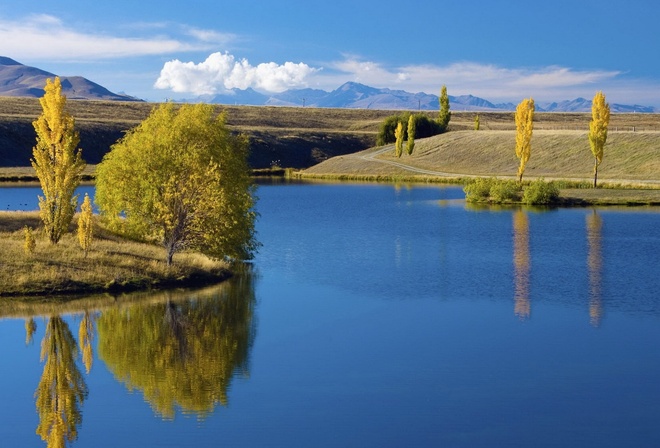
{"label": "brownish mountain slope at far left, behind the tall poplar", "polygon": [[[36,67],[23,65],[0,56],[0,96],[42,97],[46,79],[55,74]],[[62,93],[69,99],[141,101],[135,97],[117,94],[82,76],[60,76]]]}

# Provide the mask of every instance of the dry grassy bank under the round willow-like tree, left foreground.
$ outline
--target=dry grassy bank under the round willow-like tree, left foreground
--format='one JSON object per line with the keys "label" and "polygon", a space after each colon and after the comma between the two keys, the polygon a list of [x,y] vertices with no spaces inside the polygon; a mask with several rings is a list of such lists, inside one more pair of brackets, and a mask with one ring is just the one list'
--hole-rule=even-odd
{"label": "dry grassy bank under the round willow-like tree, left foreground", "polygon": [[32,255],[23,250],[23,227],[38,228],[38,212],[0,212],[0,296],[35,296],[200,286],[231,275],[225,263],[197,253],[175,255],[165,263],[159,246],[128,241],[99,226],[85,256],[76,235],[51,245],[35,232]]}

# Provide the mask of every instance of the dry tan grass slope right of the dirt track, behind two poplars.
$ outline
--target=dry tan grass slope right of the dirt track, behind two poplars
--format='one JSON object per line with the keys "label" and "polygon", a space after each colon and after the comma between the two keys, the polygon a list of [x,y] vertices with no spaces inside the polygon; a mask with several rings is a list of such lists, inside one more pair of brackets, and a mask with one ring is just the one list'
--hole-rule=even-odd
{"label": "dry tan grass slope right of the dirt track, behind two poplars", "polygon": [[[419,140],[411,166],[457,174],[514,176],[518,159],[514,131],[458,131]],[[395,160],[394,154],[383,154]],[[611,132],[599,177],[614,180],[660,180],[660,132]],[[589,179],[593,156],[583,131],[535,131],[532,155],[525,168],[529,177]]]}

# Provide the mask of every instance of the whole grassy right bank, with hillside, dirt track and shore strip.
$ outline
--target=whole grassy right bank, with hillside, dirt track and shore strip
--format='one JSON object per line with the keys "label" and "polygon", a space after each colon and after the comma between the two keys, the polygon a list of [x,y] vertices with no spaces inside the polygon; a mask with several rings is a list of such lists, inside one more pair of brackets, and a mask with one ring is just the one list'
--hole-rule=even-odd
{"label": "whole grassy right bank, with hillside, dirt track and shore strip", "polygon": [[[576,120],[586,118],[588,124],[584,114],[574,115]],[[656,122],[660,124],[658,116],[645,117],[648,129]],[[547,128],[550,125],[546,123]],[[584,130],[535,131],[524,179],[554,180],[565,204],[658,205],[660,132],[640,131],[640,127],[633,132],[621,126],[610,132],[599,167],[598,189],[591,188],[593,156]],[[518,169],[514,148],[513,130],[455,130],[417,140],[412,156],[397,158],[393,147],[370,148],[334,157],[297,175],[304,179],[459,184],[474,177],[514,179]]]}

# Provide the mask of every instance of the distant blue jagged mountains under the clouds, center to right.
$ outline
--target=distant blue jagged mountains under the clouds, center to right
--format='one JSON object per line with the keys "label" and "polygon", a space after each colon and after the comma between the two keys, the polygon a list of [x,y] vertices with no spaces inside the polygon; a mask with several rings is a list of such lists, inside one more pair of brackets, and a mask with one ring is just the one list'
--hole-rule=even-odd
{"label": "distant blue jagged mountains under the clouds, center to right", "polygon": [[[308,106],[347,109],[380,110],[437,110],[438,96],[428,93],[410,93],[404,90],[377,89],[356,82],[347,82],[326,92],[318,89],[291,89],[266,95],[253,89],[233,89],[218,95],[205,95],[189,102],[205,101],[216,104],[251,106]],[[472,95],[451,96],[449,104],[455,111],[514,111],[513,103],[494,104]],[[653,107],[640,105],[610,104],[612,112],[658,112]],[[561,102],[537,103],[538,112],[591,112],[591,100],[576,98]]]}

